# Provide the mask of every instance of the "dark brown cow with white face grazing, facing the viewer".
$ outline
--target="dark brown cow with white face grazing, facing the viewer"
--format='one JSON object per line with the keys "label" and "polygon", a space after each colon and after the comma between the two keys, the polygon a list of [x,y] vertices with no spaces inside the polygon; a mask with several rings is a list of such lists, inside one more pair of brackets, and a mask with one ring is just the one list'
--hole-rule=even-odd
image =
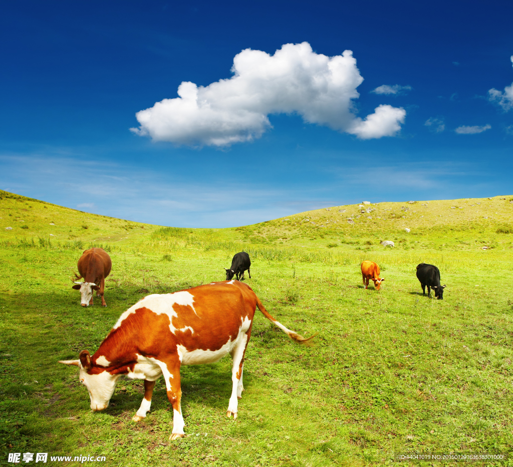
{"label": "dark brown cow with white face grazing, facing the viewer", "polygon": [[[102,305],[107,306],[103,292],[105,289],[105,277],[110,274],[112,261],[103,248],[90,248],[84,251],[78,260],[78,273],[75,274],[73,289],[80,290],[80,304],[83,307],[93,304],[93,289],[96,296],[102,298]],[[78,279],[84,278],[84,282]],[[72,279],[73,280],[73,279]]]}

